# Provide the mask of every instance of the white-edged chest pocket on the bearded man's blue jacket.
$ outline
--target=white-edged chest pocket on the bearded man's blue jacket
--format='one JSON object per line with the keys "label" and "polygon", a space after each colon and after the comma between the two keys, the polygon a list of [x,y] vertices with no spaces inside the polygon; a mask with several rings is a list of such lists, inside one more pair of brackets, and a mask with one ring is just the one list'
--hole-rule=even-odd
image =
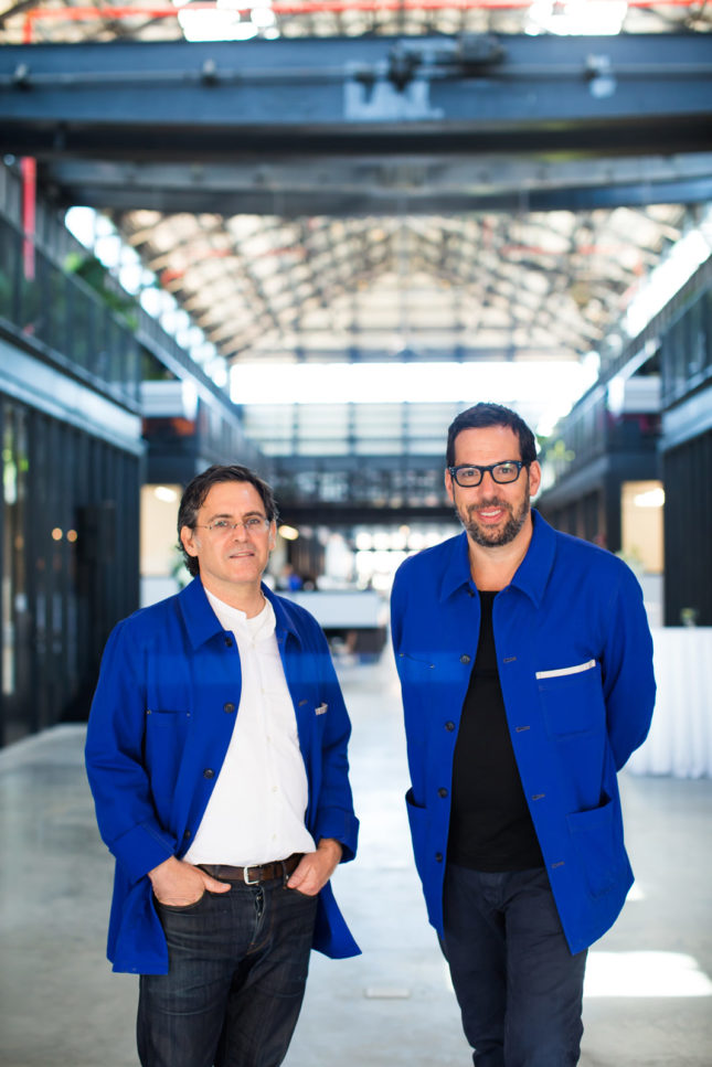
{"label": "white-edged chest pocket on the bearded man's blue jacket", "polygon": [[603,728],[605,705],[596,660],[538,671],[536,685],[552,734],[586,734]]}

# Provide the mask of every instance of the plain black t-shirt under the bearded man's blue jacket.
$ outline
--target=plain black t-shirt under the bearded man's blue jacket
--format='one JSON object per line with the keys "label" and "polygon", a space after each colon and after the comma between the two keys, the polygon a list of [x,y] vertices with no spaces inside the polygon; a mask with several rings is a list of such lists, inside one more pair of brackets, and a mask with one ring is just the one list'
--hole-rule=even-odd
{"label": "plain black t-shirt under the bearded man's blue jacket", "polygon": [[499,684],[492,606],[480,591],[477,657],[455,746],[447,858],[475,871],[543,866],[522,789]]}

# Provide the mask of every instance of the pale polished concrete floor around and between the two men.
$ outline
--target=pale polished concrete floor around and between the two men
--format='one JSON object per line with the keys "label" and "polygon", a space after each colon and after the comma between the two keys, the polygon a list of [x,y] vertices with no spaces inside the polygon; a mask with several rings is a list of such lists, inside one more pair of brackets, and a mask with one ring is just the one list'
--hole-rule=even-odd
{"label": "pale polished concrete floor around and between the two men", "polygon": [[[336,890],[363,956],[317,953],[286,1067],[471,1063],[413,869],[390,655],[342,664],[361,818]],[[84,730],[0,753],[0,1065],[136,1067],[135,977],[105,961],[111,861]],[[712,781],[624,776],[637,883],[591,952],[582,1067],[712,1067]]]}

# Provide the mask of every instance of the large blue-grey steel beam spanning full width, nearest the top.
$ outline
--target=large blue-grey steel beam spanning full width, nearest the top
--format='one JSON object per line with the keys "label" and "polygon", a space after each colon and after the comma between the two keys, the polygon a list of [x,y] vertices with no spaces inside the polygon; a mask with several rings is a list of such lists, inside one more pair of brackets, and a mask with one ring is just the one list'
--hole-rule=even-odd
{"label": "large blue-grey steel beam spanning full width, nearest the top", "polygon": [[2,150],[40,158],[669,153],[711,128],[703,33],[0,50]]}

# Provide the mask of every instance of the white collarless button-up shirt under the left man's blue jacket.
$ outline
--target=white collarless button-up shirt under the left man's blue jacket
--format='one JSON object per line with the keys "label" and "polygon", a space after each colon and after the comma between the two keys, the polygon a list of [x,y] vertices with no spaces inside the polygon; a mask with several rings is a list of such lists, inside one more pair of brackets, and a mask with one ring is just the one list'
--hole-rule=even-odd
{"label": "white collarless button-up shirt under the left man's blue jacket", "polygon": [[205,593],[237,642],[242,692],[225,760],[185,860],[242,867],[312,852],[315,842],[305,826],[307,772],[274,609],[266,600],[259,615],[248,619]]}

